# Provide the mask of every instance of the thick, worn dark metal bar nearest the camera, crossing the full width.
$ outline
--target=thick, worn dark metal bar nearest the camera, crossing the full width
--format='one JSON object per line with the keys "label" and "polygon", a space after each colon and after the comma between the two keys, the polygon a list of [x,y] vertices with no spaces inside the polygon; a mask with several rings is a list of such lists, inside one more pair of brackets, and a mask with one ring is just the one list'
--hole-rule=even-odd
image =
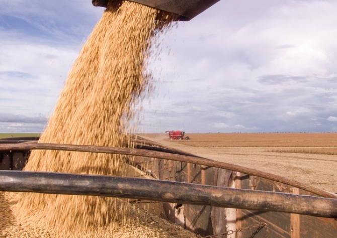
{"label": "thick, worn dark metal bar nearest the camera, crossing the full width", "polygon": [[337,217],[337,199],[132,177],[1,171],[0,190],[109,196]]}

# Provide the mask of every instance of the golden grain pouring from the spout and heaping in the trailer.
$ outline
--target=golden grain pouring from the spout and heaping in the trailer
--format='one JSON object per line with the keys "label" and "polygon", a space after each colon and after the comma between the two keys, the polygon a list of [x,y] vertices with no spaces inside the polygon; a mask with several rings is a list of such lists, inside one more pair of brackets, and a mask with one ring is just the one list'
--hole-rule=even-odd
{"label": "golden grain pouring from the spout and heaping in the trailer", "polygon": [[[159,26],[155,21],[164,15],[128,1],[109,2],[69,72],[39,142],[122,146],[126,138],[120,132],[129,128],[136,114],[134,105],[151,89],[146,59],[156,34],[169,25]],[[25,170],[124,175],[126,168],[116,155],[34,151]],[[12,193],[2,199],[9,204],[2,209],[11,216],[6,219],[10,225],[1,224],[6,227],[3,235],[8,237],[118,237],[118,232],[120,237],[132,237],[132,227],[139,225],[147,229],[143,237],[146,233],[148,237],[170,236],[166,231],[161,235],[162,227],[146,222],[147,215],[116,198]],[[116,235],[112,235],[113,230]]]}

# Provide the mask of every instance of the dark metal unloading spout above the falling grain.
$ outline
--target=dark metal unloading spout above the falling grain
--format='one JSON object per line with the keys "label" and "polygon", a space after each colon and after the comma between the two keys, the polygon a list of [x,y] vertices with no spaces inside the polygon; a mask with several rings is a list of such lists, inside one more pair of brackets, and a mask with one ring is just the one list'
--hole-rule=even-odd
{"label": "dark metal unloading spout above the falling grain", "polygon": [[[109,0],[92,0],[95,7],[107,7]],[[112,0],[110,0],[112,1]],[[178,21],[190,21],[220,0],[129,0],[179,15]]]}

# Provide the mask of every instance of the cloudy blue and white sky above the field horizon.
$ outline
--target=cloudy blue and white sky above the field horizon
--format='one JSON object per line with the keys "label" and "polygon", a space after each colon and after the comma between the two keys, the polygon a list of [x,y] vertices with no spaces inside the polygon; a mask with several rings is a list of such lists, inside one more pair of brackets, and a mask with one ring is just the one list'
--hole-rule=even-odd
{"label": "cloudy blue and white sky above the field horizon", "polygon": [[[42,132],[101,18],[91,1],[5,0],[0,133]],[[162,36],[140,131],[337,132],[337,2],[221,0]]]}

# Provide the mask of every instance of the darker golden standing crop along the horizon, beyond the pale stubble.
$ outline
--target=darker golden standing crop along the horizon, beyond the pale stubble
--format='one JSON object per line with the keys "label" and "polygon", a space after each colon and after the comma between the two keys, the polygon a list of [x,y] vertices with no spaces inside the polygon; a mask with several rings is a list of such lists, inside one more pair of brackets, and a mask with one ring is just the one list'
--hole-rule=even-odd
{"label": "darker golden standing crop along the horizon, beyond the pale stubble", "polygon": [[[143,134],[161,140],[163,134]],[[266,147],[272,152],[337,155],[337,133],[194,133],[191,140],[172,141],[190,147]]]}

